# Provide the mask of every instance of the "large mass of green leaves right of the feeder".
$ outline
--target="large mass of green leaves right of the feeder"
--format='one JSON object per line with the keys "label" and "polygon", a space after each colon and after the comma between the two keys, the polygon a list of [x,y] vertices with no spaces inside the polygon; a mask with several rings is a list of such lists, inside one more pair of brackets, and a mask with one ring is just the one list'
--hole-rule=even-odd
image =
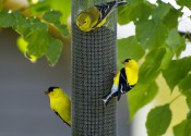
{"label": "large mass of green leaves right of the feeder", "polygon": [[[191,57],[180,58],[186,49],[187,37],[178,32],[178,21],[183,15],[181,10],[183,7],[190,8],[191,3],[188,0],[177,0],[177,4],[180,5],[179,9],[160,0],[155,4],[144,0],[129,0],[129,7],[119,9],[119,24],[133,22],[135,35],[118,40],[118,60],[133,58],[141,65],[139,83],[128,94],[131,119],[156,97],[160,87],[156,84],[159,74],[171,91],[176,86],[179,87],[180,96],[187,97],[188,107],[191,108]],[[148,136],[165,134],[171,122],[172,102],[150,111],[146,121]],[[190,136],[190,126],[189,112],[188,119],[174,127],[175,136]]]}

